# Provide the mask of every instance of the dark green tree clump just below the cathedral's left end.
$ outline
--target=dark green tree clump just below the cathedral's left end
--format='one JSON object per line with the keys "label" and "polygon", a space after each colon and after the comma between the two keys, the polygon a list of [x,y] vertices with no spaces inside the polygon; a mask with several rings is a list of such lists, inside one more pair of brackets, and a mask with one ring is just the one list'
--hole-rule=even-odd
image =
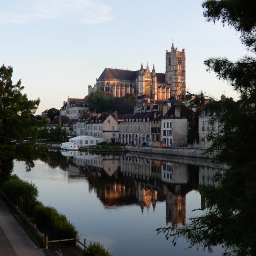
{"label": "dark green tree clump just below the cathedral's left end", "polygon": [[126,94],[124,97],[108,96],[103,90],[96,90],[88,96],[90,111],[107,112],[117,111],[118,114],[133,114],[138,99],[135,94]]}

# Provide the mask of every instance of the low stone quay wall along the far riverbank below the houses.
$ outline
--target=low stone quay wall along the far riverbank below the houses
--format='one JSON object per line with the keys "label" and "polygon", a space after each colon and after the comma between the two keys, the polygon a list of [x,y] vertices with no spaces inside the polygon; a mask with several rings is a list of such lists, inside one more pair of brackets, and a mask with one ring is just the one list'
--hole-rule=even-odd
{"label": "low stone quay wall along the far riverbank below the houses", "polygon": [[126,145],[129,151],[133,152],[143,152],[150,154],[165,154],[174,156],[190,156],[196,158],[214,158],[216,153],[209,155],[204,154],[205,150],[202,148],[168,148],[168,147],[155,147],[155,146],[134,146]]}

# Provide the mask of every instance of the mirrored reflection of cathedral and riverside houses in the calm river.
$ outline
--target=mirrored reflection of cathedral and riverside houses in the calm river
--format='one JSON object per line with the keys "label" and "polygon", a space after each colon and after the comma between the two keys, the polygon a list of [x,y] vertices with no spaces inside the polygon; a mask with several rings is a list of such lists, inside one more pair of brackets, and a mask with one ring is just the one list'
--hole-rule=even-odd
{"label": "mirrored reflection of cathedral and riverside houses in the calm river", "polygon": [[[88,152],[68,152],[68,178],[86,176],[89,190],[97,194],[104,207],[138,205],[142,213],[155,210],[157,202],[166,202],[166,224],[186,223],[186,194],[199,184],[211,184],[220,169],[177,162],[154,160],[152,156],[102,156]],[[182,159],[183,160],[183,159]],[[79,176],[80,175],[80,176]],[[202,208],[204,208],[204,197]],[[152,208],[151,208],[152,207]],[[151,210],[150,210],[151,208]]]}

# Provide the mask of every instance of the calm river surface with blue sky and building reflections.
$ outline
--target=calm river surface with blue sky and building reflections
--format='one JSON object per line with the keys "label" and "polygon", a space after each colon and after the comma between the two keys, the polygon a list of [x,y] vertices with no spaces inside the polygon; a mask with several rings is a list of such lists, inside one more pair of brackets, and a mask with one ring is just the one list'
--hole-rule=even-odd
{"label": "calm river surface with blue sky and building reflections", "polygon": [[204,207],[198,184],[218,186],[214,173],[224,170],[210,160],[154,158],[50,152],[48,162],[36,160],[30,172],[24,162],[15,162],[14,173],[36,184],[39,199],[65,214],[81,241],[100,242],[114,256],[220,255],[219,247],[214,254],[186,250],[182,240],[174,247],[155,230],[200,214],[192,212]]}

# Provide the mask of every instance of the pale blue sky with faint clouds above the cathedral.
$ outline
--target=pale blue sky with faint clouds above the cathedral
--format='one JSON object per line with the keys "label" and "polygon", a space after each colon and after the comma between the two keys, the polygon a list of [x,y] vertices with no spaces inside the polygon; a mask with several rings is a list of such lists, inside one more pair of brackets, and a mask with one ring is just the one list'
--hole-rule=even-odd
{"label": "pale blue sky with faint clouds above the cathedral", "polygon": [[216,98],[237,98],[226,82],[205,71],[208,57],[246,54],[238,34],[206,22],[201,0],[8,0],[0,10],[0,60],[14,68],[38,113],[83,98],[105,67],[165,72],[172,38],[186,49],[186,86]]}

